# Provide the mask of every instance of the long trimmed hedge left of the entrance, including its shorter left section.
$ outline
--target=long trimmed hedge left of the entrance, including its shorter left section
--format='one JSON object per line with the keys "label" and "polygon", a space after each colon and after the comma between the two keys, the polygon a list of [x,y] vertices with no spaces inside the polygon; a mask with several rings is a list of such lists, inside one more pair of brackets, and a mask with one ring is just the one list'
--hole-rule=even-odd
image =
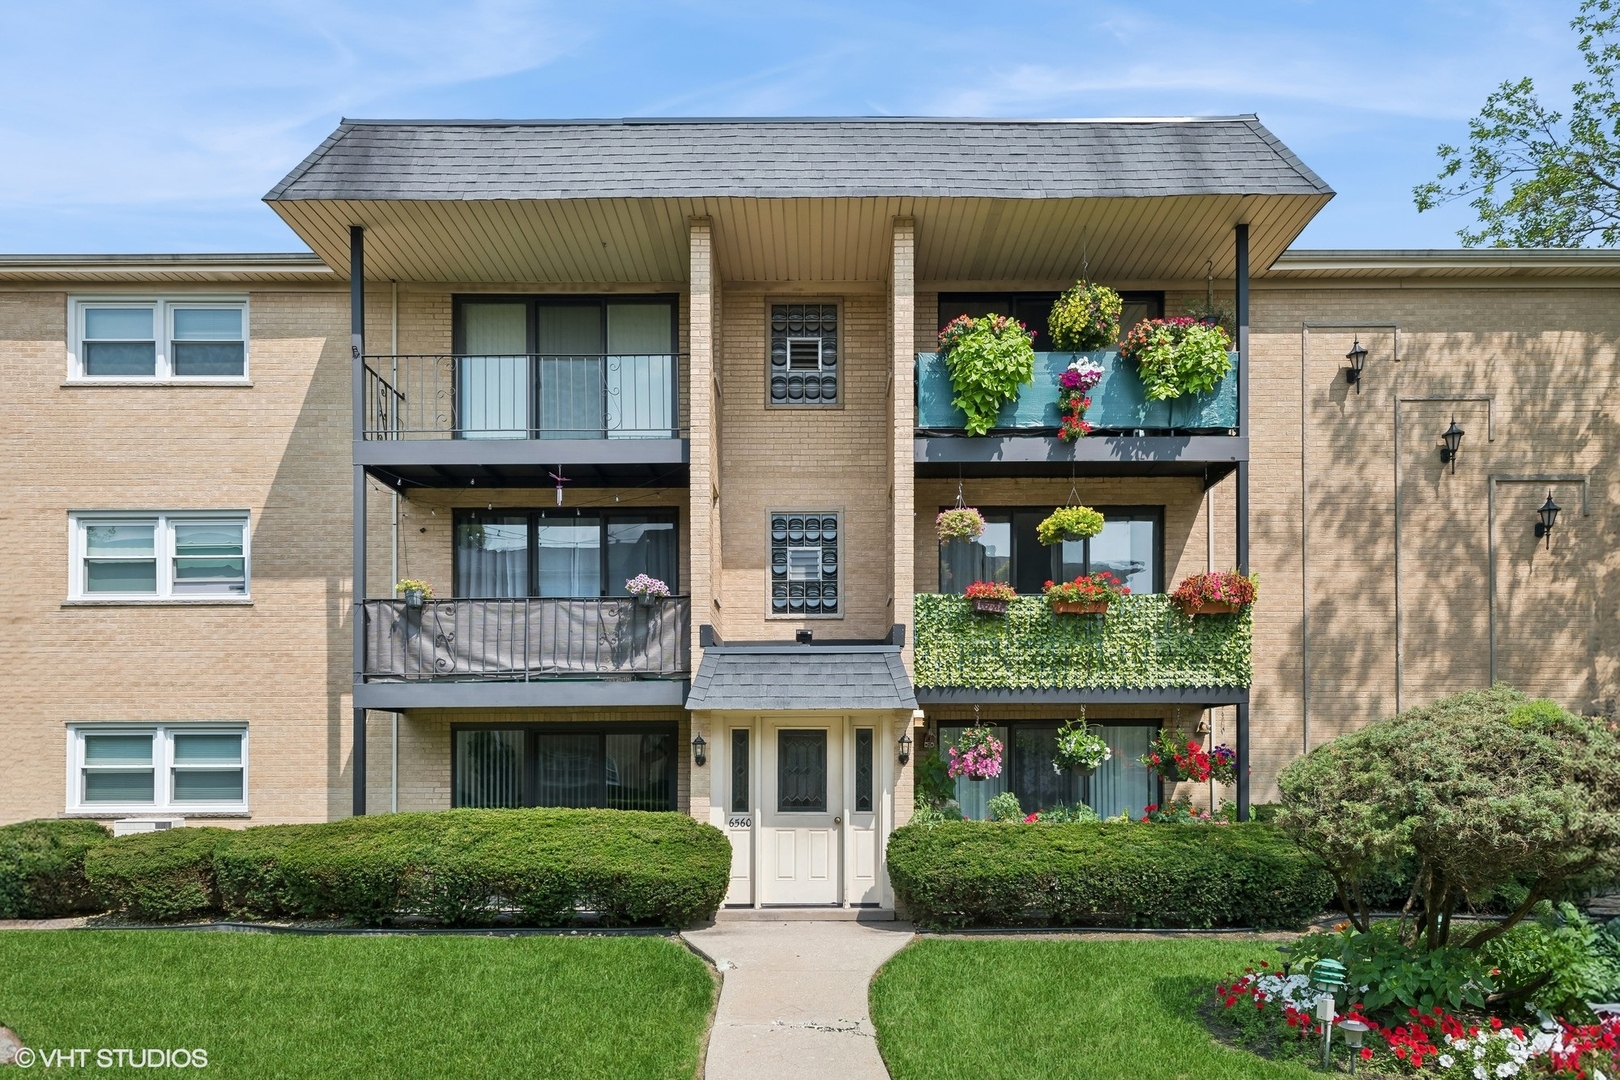
{"label": "long trimmed hedge left of the entrance, including its shorter left section", "polygon": [[143,918],[561,926],[586,910],[604,925],[685,926],[713,916],[731,878],[726,836],[677,813],[446,810],[185,832],[224,836],[120,839],[92,865],[97,887]]}

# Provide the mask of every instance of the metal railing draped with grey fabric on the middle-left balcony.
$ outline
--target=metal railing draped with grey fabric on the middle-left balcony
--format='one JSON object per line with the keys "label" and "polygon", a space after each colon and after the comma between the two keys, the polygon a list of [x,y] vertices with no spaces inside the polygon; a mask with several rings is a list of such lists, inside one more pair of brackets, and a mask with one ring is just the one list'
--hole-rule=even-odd
{"label": "metal railing draped with grey fabric on the middle-left balcony", "polygon": [[687,674],[692,601],[635,597],[366,601],[368,680]]}

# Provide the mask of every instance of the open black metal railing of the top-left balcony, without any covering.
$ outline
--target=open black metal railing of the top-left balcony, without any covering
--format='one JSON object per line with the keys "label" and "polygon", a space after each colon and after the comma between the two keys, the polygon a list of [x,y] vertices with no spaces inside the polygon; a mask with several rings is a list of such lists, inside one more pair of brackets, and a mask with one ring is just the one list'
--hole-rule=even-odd
{"label": "open black metal railing of the top-left balcony, without any covering", "polygon": [[366,439],[674,439],[680,358],[366,356]]}

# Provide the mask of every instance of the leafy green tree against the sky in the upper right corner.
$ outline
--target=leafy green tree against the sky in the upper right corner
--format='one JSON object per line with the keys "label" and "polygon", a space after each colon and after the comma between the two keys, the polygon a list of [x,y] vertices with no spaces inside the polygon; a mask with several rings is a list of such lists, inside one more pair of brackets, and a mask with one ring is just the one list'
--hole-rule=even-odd
{"label": "leafy green tree against the sky in the upper right corner", "polygon": [[1508,79],[1468,121],[1468,147],[1442,146],[1440,175],[1413,188],[1418,210],[1468,199],[1479,228],[1468,246],[1578,248],[1620,243],[1620,0],[1583,0],[1570,23],[1588,76],[1568,118],[1531,79]]}

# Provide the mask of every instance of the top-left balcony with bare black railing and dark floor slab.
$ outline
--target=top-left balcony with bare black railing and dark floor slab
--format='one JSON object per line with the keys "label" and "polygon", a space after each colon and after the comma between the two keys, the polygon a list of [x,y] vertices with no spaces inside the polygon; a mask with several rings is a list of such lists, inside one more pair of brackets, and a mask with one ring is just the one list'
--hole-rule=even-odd
{"label": "top-left balcony with bare black railing and dark floor slab", "polygon": [[684,484],[680,358],[364,358],[355,463],[426,486]]}

